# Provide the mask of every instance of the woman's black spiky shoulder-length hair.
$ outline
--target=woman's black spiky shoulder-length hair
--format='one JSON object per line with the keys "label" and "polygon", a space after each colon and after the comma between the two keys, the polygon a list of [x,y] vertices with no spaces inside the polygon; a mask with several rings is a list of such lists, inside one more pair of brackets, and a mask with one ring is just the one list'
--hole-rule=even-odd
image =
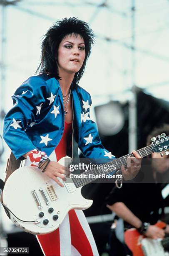
{"label": "woman's black spiky shoulder-length hair", "polygon": [[59,77],[59,70],[56,63],[57,53],[62,39],[70,34],[79,34],[85,42],[85,60],[79,72],[75,74],[73,80],[74,86],[79,83],[85,71],[86,61],[91,53],[92,44],[94,44],[94,33],[85,21],[79,20],[75,17],[57,20],[57,22],[49,28],[45,36],[43,36],[41,45],[41,61],[35,74],[44,72],[54,75],[57,79],[61,79],[61,77]]}

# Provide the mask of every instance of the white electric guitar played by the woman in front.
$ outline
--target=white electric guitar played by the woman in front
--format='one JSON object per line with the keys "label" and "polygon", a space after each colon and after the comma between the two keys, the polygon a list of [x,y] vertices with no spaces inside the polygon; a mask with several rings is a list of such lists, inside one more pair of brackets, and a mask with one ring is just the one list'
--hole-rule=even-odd
{"label": "white electric guitar played by the woman in front", "polygon": [[[167,151],[169,136],[164,133],[159,139],[152,138],[152,144],[137,150],[141,157],[152,152]],[[128,154],[109,162],[116,166],[116,171],[122,165],[127,166]],[[60,159],[64,165],[64,159]],[[98,174],[105,174],[104,170],[97,170]],[[108,171],[106,174],[112,172]],[[89,170],[85,174],[96,171]],[[88,175],[89,177],[89,175]],[[42,173],[37,167],[21,167],[13,172],[5,183],[3,189],[3,206],[8,217],[22,230],[32,234],[46,234],[56,230],[71,209],[85,210],[92,205],[92,200],[82,197],[83,185],[94,181],[96,178],[67,178],[60,187],[53,179]]]}

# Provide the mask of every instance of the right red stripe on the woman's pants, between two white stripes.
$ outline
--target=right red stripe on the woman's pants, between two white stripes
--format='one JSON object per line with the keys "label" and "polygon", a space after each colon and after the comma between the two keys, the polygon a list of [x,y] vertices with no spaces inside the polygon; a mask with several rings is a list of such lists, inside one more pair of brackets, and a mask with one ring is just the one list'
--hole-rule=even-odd
{"label": "right red stripe on the woman's pants, between two white stripes", "polygon": [[93,256],[92,247],[77,218],[75,210],[69,211],[69,221],[72,246],[74,246],[82,256]]}

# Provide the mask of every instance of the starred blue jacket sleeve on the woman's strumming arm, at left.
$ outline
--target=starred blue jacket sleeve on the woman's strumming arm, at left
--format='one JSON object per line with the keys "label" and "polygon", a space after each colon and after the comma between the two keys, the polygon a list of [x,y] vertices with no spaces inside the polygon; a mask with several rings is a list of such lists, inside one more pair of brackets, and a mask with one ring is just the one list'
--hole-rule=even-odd
{"label": "starred blue jacket sleeve on the woman's strumming arm, at left", "polygon": [[42,111],[47,95],[47,84],[41,77],[28,78],[12,96],[13,108],[4,120],[3,138],[16,159],[35,148],[26,129],[35,122]]}

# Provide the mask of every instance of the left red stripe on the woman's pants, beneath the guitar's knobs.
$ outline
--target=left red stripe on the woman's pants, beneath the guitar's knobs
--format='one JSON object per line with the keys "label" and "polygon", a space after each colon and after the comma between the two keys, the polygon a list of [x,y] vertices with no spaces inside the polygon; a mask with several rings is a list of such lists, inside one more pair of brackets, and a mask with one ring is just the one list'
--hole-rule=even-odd
{"label": "left red stripe on the woman's pants, beneath the guitar's knobs", "polygon": [[37,237],[46,256],[60,256],[59,228],[49,234]]}

